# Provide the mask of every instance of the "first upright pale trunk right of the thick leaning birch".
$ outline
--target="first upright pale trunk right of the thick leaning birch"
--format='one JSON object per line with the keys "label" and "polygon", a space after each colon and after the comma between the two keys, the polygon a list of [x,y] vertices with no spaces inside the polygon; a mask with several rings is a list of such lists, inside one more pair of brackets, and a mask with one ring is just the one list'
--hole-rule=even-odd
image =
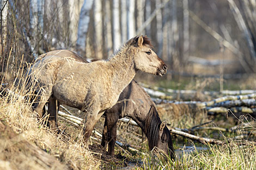
{"label": "first upright pale trunk right of the thick leaning birch", "polygon": [[95,28],[95,43],[96,43],[96,58],[102,59],[102,5],[101,0],[94,2],[94,28]]}

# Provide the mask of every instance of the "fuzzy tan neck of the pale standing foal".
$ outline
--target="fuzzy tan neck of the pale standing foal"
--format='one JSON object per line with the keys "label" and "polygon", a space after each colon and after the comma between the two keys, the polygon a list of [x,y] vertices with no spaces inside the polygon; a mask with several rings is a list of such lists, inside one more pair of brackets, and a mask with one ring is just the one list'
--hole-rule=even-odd
{"label": "fuzzy tan neck of the pale standing foal", "polygon": [[114,89],[118,92],[124,90],[137,72],[132,56],[124,55],[125,54],[119,53],[108,61],[108,66],[113,71],[111,81],[114,85]]}

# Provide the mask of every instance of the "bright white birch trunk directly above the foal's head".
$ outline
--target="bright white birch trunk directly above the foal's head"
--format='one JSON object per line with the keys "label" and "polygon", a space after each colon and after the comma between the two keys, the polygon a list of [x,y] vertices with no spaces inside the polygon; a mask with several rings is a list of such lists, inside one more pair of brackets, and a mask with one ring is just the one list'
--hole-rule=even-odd
{"label": "bright white birch trunk directly above the foal's head", "polygon": [[134,10],[135,10],[135,0],[127,0],[127,37],[128,39],[131,39],[133,36],[135,36],[135,16],[134,16]]}

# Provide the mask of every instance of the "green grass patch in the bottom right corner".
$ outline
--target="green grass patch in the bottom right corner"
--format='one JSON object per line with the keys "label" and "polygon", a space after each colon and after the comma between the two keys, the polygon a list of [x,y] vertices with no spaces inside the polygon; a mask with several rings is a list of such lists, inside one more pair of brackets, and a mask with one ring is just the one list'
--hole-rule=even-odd
{"label": "green grass patch in the bottom right corner", "polygon": [[256,169],[254,145],[209,146],[209,150],[184,153],[173,161],[169,156],[149,155],[144,157],[144,167],[137,169]]}

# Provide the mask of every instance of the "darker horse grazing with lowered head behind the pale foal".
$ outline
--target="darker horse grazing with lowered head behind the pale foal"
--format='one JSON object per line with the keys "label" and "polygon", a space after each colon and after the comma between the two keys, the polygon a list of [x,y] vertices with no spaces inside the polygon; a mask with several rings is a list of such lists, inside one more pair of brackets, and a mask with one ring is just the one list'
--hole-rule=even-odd
{"label": "darker horse grazing with lowered head behind the pale foal", "polygon": [[[42,54],[39,56],[39,59],[48,55],[55,55],[59,58],[70,57],[77,61],[88,63],[88,61],[81,58],[81,56],[66,49]],[[54,109],[56,109],[55,106],[48,105],[49,114],[54,112]],[[155,103],[135,80],[132,80],[131,83],[125,87],[119,96],[118,104],[115,104],[111,109],[106,110],[105,116],[106,119],[101,145],[106,148],[108,144],[109,155],[114,155],[118,118],[129,116],[137,122],[146,134],[150,150],[156,147],[157,149],[163,150],[166,154],[170,153],[172,158],[174,158],[172,137],[166,127],[166,123],[161,122],[155,108]],[[57,115],[50,115],[48,121],[56,123],[57,127]]]}

